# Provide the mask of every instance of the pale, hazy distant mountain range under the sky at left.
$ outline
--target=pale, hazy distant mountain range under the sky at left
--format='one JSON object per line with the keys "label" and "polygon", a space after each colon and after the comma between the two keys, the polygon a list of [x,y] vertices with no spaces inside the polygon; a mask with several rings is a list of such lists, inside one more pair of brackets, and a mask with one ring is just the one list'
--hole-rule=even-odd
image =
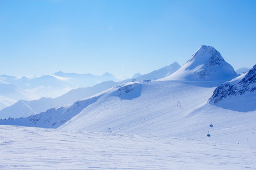
{"label": "pale, hazy distant mountain range under the sky at left", "polygon": [[18,100],[37,100],[41,97],[55,98],[74,88],[94,86],[108,80],[118,81],[121,79],[109,73],[96,76],[61,71],[52,75],[40,75],[32,78],[0,75],[0,109],[10,106]]}

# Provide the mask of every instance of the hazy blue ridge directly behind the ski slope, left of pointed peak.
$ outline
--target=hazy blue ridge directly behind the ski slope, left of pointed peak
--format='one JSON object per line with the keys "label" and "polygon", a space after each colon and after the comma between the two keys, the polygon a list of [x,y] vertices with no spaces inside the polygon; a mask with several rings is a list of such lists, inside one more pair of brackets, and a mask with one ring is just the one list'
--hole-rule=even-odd
{"label": "hazy blue ridge directly behind the ski slope, left of pointed peak", "polygon": [[[163,67],[162,69],[152,71],[151,73],[141,75],[136,78],[137,81],[139,80],[148,80],[148,79],[155,79],[155,78],[163,78],[164,76],[170,75],[174,73],[176,70],[180,68],[180,65],[177,62],[172,63],[169,66]],[[56,76],[62,77],[75,77],[79,76],[78,74],[64,74],[64,73],[57,73]],[[103,75],[102,75],[103,76]],[[109,74],[105,74],[105,76],[109,76]],[[19,117],[28,117],[34,114],[38,114],[41,112],[47,111],[49,108],[61,107],[63,105],[71,104],[77,100],[84,99],[86,97],[90,97],[95,95],[99,92],[108,90],[111,87],[117,86],[118,84],[122,84],[125,82],[132,82],[133,79],[123,80],[122,82],[113,82],[113,81],[106,81],[99,84],[96,84],[93,87],[86,87],[86,88],[77,88],[67,92],[60,97],[56,97],[55,99],[49,97],[43,97],[39,100],[32,100],[32,101],[19,101],[10,107],[4,108],[0,111],[0,119],[4,118],[19,118]],[[20,111],[20,112],[17,112]]]}

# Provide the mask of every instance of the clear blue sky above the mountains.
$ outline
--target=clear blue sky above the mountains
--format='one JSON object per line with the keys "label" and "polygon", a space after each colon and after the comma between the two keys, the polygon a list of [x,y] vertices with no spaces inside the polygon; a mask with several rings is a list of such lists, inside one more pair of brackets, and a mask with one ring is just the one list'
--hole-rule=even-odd
{"label": "clear blue sky above the mountains", "polygon": [[147,74],[201,45],[256,64],[256,1],[0,0],[0,75]]}

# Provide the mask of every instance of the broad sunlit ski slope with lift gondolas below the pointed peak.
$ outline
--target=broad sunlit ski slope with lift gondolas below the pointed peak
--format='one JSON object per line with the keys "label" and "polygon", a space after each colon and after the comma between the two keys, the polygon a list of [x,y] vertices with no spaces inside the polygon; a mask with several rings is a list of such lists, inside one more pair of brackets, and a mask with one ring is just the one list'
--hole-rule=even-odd
{"label": "broad sunlit ski slope with lift gondolas below the pointed peak", "polygon": [[[255,146],[255,109],[243,112],[236,111],[234,103],[226,104],[233,110],[209,104],[207,101],[215,89],[210,87],[212,82],[133,84],[134,90],[130,83],[106,91],[59,129],[108,132],[110,128],[113,133],[201,138]],[[126,93],[127,88],[130,91]],[[119,89],[123,89],[123,94],[118,96]],[[240,100],[246,100],[247,96],[240,97]],[[181,107],[177,107],[177,101]],[[247,107],[253,109],[254,104],[255,100],[249,100]],[[212,122],[213,128],[209,126]]]}

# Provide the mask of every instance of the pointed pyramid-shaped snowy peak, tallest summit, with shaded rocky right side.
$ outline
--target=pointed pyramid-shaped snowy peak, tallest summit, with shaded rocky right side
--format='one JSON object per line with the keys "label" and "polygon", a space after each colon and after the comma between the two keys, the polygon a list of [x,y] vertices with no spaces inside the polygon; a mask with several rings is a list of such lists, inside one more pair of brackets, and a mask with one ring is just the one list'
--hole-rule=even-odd
{"label": "pointed pyramid-shaped snowy peak, tallest summit, with shaded rocky right side", "polygon": [[225,62],[216,49],[202,45],[179,70],[162,80],[221,80],[225,82],[236,76],[236,71]]}

